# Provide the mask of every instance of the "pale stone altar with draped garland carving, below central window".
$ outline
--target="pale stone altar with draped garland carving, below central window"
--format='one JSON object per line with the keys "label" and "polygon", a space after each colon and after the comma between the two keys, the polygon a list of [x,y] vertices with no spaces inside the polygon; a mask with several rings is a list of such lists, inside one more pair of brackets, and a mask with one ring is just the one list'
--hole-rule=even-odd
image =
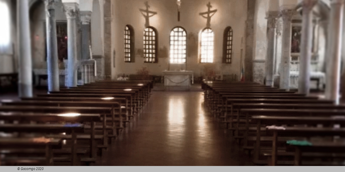
{"label": "pale stone altar with draped garland carving, below central window", "polygon": [[162,71],[165,88],[190,89],[190,84],[194,83],[193,71]]}

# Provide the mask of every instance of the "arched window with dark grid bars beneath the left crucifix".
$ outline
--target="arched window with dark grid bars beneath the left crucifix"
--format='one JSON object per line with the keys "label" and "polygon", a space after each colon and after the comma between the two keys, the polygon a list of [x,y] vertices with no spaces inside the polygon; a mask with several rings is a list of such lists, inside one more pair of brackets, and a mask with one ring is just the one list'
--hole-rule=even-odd
{"label": "arched window with dark grid bars beneath the left crucifix", "polygon": [[157,32],[155,28],[144,30],[144,62],[157,63]]}

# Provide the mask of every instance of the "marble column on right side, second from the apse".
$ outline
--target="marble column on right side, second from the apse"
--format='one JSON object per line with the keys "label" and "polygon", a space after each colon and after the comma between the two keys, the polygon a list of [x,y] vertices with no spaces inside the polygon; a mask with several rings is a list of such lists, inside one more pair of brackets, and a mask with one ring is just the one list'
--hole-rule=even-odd
{"label": "marble column on right side, second from the apse", "polygon": [[279,87],[286,90],[290,89],[291,19],[294,14],[295,10],[292,9],[283,9],[280,14],[283,18],[283,31]]}

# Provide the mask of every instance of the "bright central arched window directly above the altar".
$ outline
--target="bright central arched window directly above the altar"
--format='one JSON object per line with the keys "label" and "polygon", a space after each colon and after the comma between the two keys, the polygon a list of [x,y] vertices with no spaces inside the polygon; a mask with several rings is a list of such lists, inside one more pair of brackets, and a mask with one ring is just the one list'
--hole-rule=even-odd
{"label": "bright central arched window directly above the altar", "polygon": [[170,32],[170,63],[186,63],[187,32],[176,27]]}

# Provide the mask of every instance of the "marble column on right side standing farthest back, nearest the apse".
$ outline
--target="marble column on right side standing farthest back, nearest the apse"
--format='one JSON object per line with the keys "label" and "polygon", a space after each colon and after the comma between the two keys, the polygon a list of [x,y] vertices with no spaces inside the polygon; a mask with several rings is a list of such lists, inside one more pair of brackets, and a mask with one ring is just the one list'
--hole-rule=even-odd
{"label": "marble column on right side standing farthest back, nearest the apse", "polygon": [[275,30],[278,13],[269,11],[267,14],[267,57],[266,57],[266,86],[273,87],[274,79],[274,47]]}

